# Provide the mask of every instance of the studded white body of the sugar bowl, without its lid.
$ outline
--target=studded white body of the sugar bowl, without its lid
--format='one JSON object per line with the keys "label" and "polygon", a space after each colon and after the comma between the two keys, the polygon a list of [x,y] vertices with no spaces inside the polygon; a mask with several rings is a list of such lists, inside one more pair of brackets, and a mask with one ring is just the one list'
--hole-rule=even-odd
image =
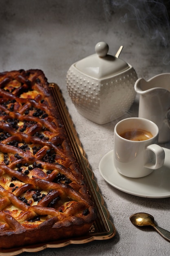
{"label": "studded white body of the sugar bowl, without its lid", "polygon": [[87,119],[106,124],[123,116],[132,105],[137,74],[133,67],[105,79],[79,71],[75,64],[67,72],[67,90],[77,111]]}

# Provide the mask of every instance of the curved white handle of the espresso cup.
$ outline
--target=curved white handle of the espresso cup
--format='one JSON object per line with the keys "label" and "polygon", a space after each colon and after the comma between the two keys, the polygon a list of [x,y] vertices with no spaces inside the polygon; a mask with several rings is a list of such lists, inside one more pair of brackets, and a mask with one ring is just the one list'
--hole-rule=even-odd
{"label": "curved white handle of the espresso cup", "polygon": [[146,147],[146,150],[151,150],[155,154],[155,164],[148,162],[145,164],[145,167],[154,170],[162,167],[165,160],[165,151],[163,148],[157,144],[151,144]]}

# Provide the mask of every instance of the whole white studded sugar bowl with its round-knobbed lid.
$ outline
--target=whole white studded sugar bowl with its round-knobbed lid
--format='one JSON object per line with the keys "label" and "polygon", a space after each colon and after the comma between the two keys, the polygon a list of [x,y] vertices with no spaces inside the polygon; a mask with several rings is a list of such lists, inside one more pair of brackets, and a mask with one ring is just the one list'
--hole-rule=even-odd
{"label": "whole white studded sugar bowl with its round-knobbed lid", "polygon": [[123,116],[132,105],[137,74],[134,68],[108,54],[99,42],[95,54],[77,61],[66,76],[67,90],[77,111],[87,119],[106,124]]}

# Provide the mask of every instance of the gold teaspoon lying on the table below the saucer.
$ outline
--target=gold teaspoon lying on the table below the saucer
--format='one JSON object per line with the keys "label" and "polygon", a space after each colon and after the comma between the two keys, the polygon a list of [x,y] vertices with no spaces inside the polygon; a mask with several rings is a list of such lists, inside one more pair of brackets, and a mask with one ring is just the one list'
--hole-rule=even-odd
{"label": "gold teaspoon lying on the table below the saucer", "polygon": [[170,241],[170,232],[158,227],[154,222],[154,217],[148,213],[135,213],[130,216],[130,221],[136,226],[152,226],[163,238]]}

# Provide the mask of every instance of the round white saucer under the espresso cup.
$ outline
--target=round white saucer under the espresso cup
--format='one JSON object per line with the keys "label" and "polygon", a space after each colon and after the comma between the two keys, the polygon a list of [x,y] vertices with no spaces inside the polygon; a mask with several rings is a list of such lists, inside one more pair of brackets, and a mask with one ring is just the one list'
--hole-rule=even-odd
{"label": "round white saucer under the espresso cup", "polygon": [[113,150],[108,152],[99,163],[99,171],[110,185],[131,195],[144,198],[170,197],[170,150],[165,150],[163,167],[142,178],[128,178],[116,170],[113,163]]}

